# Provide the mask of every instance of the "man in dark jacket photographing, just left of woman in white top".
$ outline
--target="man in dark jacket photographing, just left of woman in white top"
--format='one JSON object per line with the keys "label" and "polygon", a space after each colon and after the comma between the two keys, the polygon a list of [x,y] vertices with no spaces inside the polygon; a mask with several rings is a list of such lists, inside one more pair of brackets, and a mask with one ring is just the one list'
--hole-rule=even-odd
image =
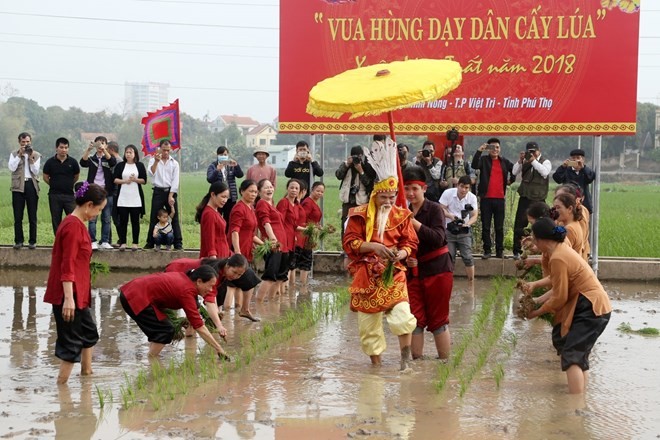
{"label": "man in dark jacket photographing, just left of woman in white top", "polygon": [[[89,153],[96,149],[96,154],[90,156]],[[85,150],[80,166],[89,168],[87,181],[96,183],[105,189],[107,200],[105,208],[101,212],[101,241],[96,242],[96,218],[89,221],[89,236],[92,239],[92,250],[112,249],[110,244],[110,228],[112,227],[112,203],[114,194],[114,178],[112,169],[117,165],[117,160],[112,157],[108,150],[108,140],[103,136],[97,136],[94,142],[90,142]]]}

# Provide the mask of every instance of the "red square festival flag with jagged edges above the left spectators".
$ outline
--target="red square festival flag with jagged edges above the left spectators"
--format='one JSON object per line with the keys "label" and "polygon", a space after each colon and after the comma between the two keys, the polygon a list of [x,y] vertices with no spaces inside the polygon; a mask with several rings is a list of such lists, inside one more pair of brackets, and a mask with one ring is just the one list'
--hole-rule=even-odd
{"label": "red square festival flag with jagged edges above the left spectators", "polygon": [[179,100],[155,112],[147,112],[142,118],[144,137],[142,151],[145,156],[156,152],[160,141],[167,139],[172,144],[172,150],[181,148],[181,124],[179,120]]}

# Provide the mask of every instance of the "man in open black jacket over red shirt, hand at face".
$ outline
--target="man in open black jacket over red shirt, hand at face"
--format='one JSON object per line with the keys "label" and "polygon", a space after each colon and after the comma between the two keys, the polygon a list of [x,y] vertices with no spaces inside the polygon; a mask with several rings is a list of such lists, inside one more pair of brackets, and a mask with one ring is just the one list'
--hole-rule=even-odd
{"label": "man in open black jacket over red shirt, hand at face", "polygon": [[[482,156],[486,150],[488,155]],[[490,225],[493,217],[495,219],[495,256],[502,258],[504,256],[504,202],[506,187],[515,180],[515,176],[512,174],[513,163],[500,157],[500,140],[490,138],[474,153],[472,169],[479,170],[477,195],[480,199],[481,239],[484,246],[482,258],[491,257],[493,243],[490,238]]]}

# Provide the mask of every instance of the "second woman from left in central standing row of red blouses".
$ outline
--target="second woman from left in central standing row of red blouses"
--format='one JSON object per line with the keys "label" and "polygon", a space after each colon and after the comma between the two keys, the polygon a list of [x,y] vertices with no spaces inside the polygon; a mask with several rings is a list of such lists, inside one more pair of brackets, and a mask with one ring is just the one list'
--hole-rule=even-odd
{"label": "second woman from left in central standing row of red blouses", "polygon": [[[256,236],[257,216],[254,213],[254,202],[257,198],[257,184],[254,180],[245,179],[239,188],[241,198],[231,210],[229,215],[229,236],[231,237],[232,250],[237,254],[242,254],[252,263],[252,252],[254,245],[262,244],[263,241]],[[258,284],[258,278],[248,280],[244,285],[236,285],[238,289],[227,289],[227,298],[225,299],[225,310],[231,307],[234,296],[236,297],[237,308],[240,307],[239,316],[251,321],[258,321],[250,312],[250,300],[254,293],[254,287]],[[242,292],[242,293],[241,293]]]}

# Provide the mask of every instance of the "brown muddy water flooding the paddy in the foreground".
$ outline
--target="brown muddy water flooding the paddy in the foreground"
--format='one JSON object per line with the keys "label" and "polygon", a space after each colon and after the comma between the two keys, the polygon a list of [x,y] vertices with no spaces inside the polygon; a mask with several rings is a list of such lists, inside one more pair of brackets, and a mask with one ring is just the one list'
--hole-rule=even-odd
{"label": "brown muddy water flooding the paddy in the foreground", "polygon": [[[0,438],[133,439],[637,439],[660,435],[660,338],[625,335],[633,328],[660,328],[660,286],[607,285],[614,313],[597,344],[584,397],[566,394],[566,381],[552,351],[550,327],[541,321],[507,321],[518,344],[504,364],[497,389],[484,368],[467,393],[458,382],[438,394],[437,361],[415,362],[414,372],[398,372],[398,349],[388,335],[384,365],[374,369],[360,349],[354,314],[322,323],[278,346],[240,372],[189,390],[154,411],[121,409],[124,375],[147,368],[146,340],[125,316],[114,286],[127,275],[101,278],[94,307],[101,340],[94,352],[93,377],[71,378],[58,389],[53,356],[55,324],[42,302],[45,273],[0,276]],[[134,275],[128,275],[134,276]],[[314,298],[343,279],[322,279]],[[12,287],[23,286],[23,287]],[[488,289],[473,290],[457,280],[452,298],[456,341],[468,327]],[[306,296],[285,296],[257,307],[264,321],[295,307]],[[229,352],[239,335],[260,325],[225,318]],[[198,347],[199,344],[199,347]],[[164,360],[194,353],[203,342],[189,338],[167,347]],[[433,357],[427,335],[426,353]],[[103,408],[98,389],[111,390]]]}

